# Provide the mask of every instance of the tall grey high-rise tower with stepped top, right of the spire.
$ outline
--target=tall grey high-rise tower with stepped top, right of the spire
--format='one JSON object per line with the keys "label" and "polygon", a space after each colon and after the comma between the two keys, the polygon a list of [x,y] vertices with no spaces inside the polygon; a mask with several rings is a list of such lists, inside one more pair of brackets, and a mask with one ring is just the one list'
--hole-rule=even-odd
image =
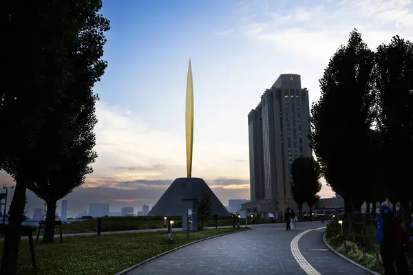
{"label": "tall grey high-rise tower with stepped top, right of the spire", "polygon": [[291,166],[311,157],[310,106],[301,76],[282,74],[248,113],[251,201],[272,199],[274,211],[295,207]]}

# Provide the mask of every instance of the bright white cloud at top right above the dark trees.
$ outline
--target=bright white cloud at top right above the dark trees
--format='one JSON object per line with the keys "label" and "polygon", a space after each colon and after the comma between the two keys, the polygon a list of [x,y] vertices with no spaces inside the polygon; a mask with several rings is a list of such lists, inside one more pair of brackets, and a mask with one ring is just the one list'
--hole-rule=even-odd
{"label": "bright white cloud at top right above the dark trees", "polygon": [[292,10],[283,5],[284,1],[275,5],[270,5],[271,1],[256,3],[262,8],[244,8],[246,15],[256,16],[240,26],[242,35],[295,58],[323,61],[324,65],[337,47],[346,43],[353,28],[362,32],[373,49],[394,34],[410,39],[413,36],[410,0],[306,1]]}

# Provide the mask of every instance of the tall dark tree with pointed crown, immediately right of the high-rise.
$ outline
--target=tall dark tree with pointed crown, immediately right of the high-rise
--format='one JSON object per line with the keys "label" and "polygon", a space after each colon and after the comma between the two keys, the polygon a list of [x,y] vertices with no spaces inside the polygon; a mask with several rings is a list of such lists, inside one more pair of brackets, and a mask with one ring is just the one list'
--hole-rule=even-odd
{"label": "tall dark tree with pointed crown, immediately right of the high-rise", "polygon": [[347,212],[368,192],[365,181],[370,171],[364,160],[374,120],[373,69],[374,53],[353,30],[348,44],[330,58],[319,80],[321,97],[311,110],[311,146],[328,184],[343,197]]}

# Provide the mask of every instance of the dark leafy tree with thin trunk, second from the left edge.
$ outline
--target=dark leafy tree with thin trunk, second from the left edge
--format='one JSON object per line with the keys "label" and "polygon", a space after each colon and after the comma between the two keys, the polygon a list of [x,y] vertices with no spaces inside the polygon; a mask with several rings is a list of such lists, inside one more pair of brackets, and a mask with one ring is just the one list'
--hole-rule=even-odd
{"label": "dark leafy tree with thin trunk, second from the left edge", "polygon": [[50,162],[50,165],[43,166],[47,169],[39,168],[36,179],[28,187],[47,203],[45,243],[54,241],[57,201],[83,184],[85,175],[93,171],[89,164],[97,157],[93,151],[96,144],[93,130],[97,123],[98,96],[93,94],[92,87],[107,67],[101,58],[106,41],[104,32],[109,30],[109,21],[97,13],[100,6],[100,1],[76,5],[76,13],[84,16],[77,19],[78,32],[74,32],[68,42],[72,49],[67,58],[70,81],[59,108],[46,117],[40,134],[37,149],[44,152],[41,162]]}

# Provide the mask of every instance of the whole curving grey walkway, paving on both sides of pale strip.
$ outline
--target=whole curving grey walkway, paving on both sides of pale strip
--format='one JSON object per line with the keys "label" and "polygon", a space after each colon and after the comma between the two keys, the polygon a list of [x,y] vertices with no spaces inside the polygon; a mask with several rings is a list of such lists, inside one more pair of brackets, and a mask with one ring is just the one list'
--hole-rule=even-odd
{"label": "whole curving grey walkway, paving on both sides of pale strip", "polygon": [[[189,245],[131,270],[127,275],[264,275],[306,274],[295,260],[290,243],[304,230],[319,228],[321,223],[297,223],[297,231],[285,231],[285,225],[254,225],[254,230],[221,236]],[[366,274],[326,249],[324,230],[304,234],[299,250],[320,274]],[[321,240],[321,243],[320,243]],[[313,273],[314,274],[314,273]]]}

